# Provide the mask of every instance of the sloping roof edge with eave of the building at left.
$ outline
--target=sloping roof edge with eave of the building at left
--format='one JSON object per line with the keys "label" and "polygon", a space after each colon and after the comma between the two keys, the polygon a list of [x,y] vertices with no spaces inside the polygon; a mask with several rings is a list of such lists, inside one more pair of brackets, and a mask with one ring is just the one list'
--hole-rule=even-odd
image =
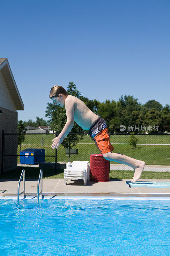
{"label": "sloping roof edge with eave of the building at left", "polygon": [[7,58],[0,58],[0,70],[4,76],[5,83],[11,94],[11,98],[16,106],[16,109],[24,110],[24,104],[19,94],[19,91],[15,83],[14,77],[12,75],[12,71]]}

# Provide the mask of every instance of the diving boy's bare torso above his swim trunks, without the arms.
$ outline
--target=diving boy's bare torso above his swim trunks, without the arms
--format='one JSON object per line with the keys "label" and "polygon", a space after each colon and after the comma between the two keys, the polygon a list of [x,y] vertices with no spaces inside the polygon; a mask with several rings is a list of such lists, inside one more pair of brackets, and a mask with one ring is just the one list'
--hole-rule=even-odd
{"label": "diving boy's bare torso above his swim trunks, without the arms", "polygon": [[82,100],[75,96],[68,95],[65,100],[74,102],[74,121],[85,131],[88,131],[99,116],[93,113]]}

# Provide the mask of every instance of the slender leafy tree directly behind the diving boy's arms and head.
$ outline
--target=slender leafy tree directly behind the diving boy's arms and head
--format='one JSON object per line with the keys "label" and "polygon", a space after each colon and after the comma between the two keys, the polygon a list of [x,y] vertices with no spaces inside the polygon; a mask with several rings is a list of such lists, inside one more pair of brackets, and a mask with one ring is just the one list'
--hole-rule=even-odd
{"label": "slender leafy tree directly behind the diving boy's arms and head", "polygon": [[[76,85],[73,82],[69,82],[67,93],[75,97],[80,97],[80,92],[77,90]],[[60,133],[63,130],[65,123],[67,122],[66,111],[64,107],[55,105],[54,103],[47,103],[46,115],[50,117],[51,128],[56,133]],[[78,133],[79,125],[74,121],[74,126],[71,133]],[[78,144],[79,140],[83,140],[83,134],[68,134],[62,145],[64,148],[69,148],[69,161],[70,161],[70,149]]]}

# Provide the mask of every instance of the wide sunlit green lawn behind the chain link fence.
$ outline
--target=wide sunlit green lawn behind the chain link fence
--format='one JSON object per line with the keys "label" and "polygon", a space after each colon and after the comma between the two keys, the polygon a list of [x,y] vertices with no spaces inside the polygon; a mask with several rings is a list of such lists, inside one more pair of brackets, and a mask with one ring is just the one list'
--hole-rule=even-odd
{"label": "wide sunlit green lawn behind the chain link fence", "polygon": [[[170,135],[136,135],[137,143],[142,144],[170,144]],[[41,139],[44,139],[43,147]],[[46,155],[54,155],[54,157],[46,156],[46,162],[55,162],[55,149],[51,148],[52,142],[55,138],[53,134],[26,134],[25,140],[21,145],[21,150],[26,148],[42,148],[45,149]],[[114,153],[121,153],[135,159],[143,160],[150,165],[170,165],[169,145],[137,145],[132,148],[130,145],[120,145],[116,143],[128,143],[129,135],[111,135],[111,144],[114,147]],[[89,161],[91,154],[100,154],[98,148],[95,146],[90,136],[85,135],[83,140],[73,148],[78,148],[78,155],[71,155],[70,161]],[[89,144],[91,143],[91,144]],[[20,146],[18,146],[18,155]],[[65,148],[61,144],[57,148],[57,162],[68,162],[69,156],[65,154]],[[19,157],[18,157],[19,162]],[[111,164],[115,162],[111,161]]]}

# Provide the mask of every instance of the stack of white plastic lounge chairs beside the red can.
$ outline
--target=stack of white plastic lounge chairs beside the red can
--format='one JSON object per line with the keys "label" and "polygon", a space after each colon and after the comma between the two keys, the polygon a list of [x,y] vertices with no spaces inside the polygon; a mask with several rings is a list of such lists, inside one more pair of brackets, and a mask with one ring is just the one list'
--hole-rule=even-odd
{"label": "stack of white plastic lounge chairs beside the red can", "polygon": [[87,180],[90,180],[90,165],[89,161],[73,161],[67,163],[66,169],[64,169],[64,183],[67,184],[68,179],[78,180],[83,179],[86,185]]}

